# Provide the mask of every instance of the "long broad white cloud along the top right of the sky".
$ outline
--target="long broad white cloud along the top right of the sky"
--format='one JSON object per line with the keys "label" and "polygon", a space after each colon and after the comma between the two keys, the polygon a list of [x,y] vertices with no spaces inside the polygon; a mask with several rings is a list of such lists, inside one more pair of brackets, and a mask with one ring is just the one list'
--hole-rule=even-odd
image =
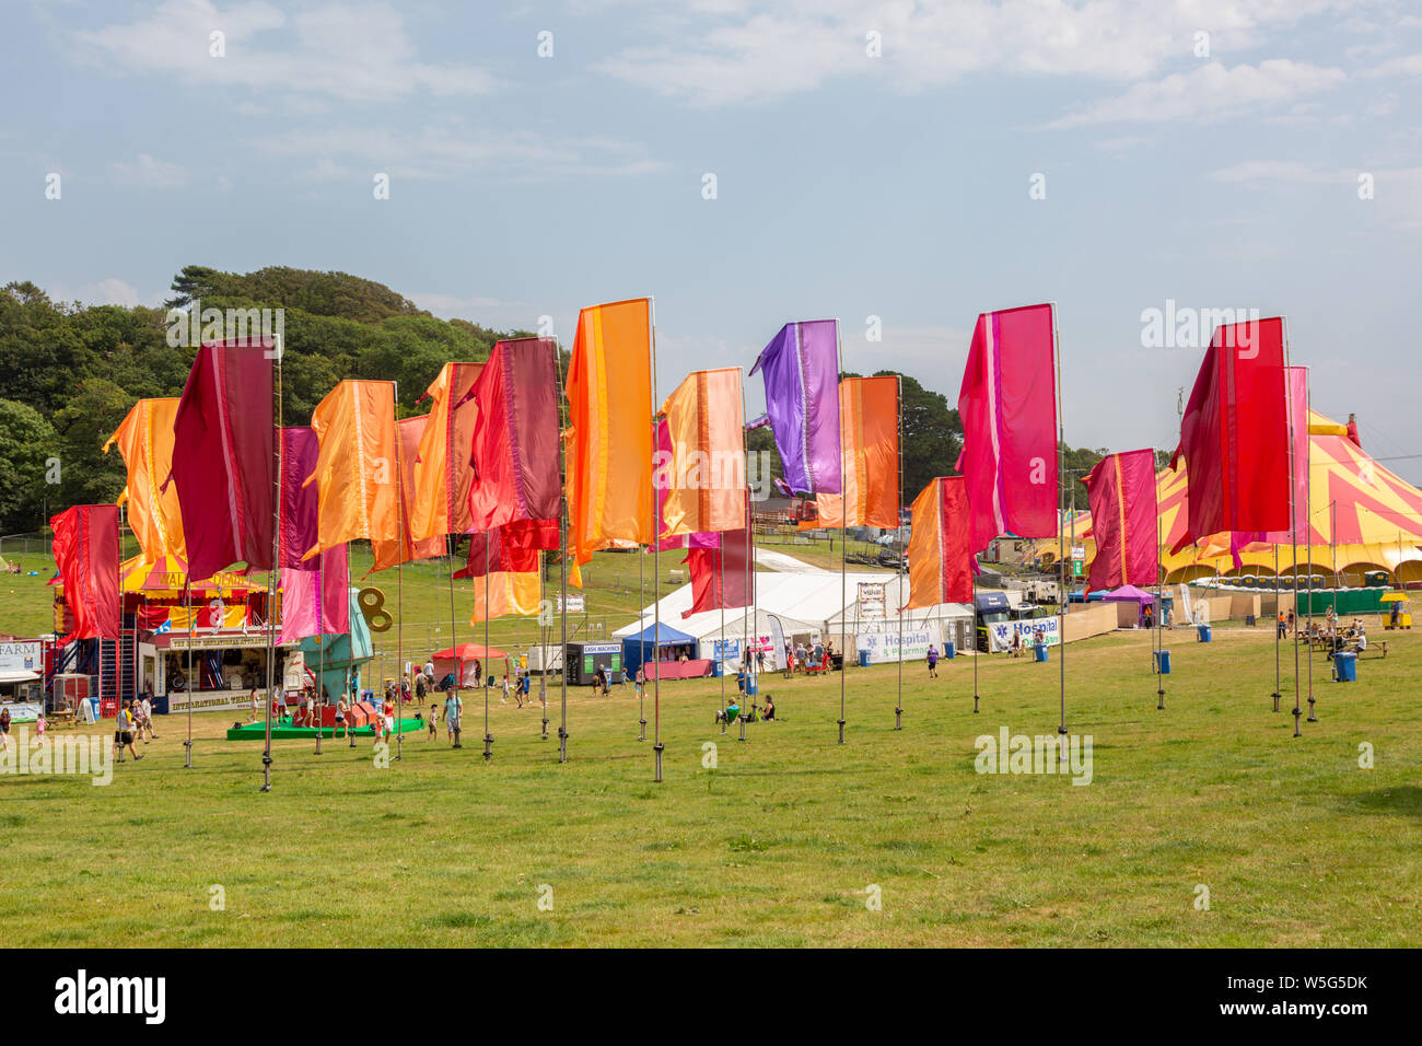
{"label": "long broad white cloud along the top right of the sky", "polygon": [[[883,77],[920,91],[973,73],[1135,81],[1193,58],[1207,30],[1214,54],[1264,44],[1273,30],[1352,0],[781,0],[694,4],[646,20],[648,43],[603,61],[617,78],[711,107],[815,90],[832,80]],[[866,54],[866,33],[882,57]]]}

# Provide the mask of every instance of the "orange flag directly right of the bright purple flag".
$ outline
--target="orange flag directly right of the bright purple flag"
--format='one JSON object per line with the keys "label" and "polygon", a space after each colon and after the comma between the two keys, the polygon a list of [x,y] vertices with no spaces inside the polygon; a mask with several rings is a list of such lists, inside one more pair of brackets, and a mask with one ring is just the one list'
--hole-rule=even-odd
{"label": "orange flag directly right of the bright purple flag", "polygon": [[[845,492],[820,494],[818,527],[899,527],[899,379],[839,383]],[[845,500],[849,521],[845,522]]]}

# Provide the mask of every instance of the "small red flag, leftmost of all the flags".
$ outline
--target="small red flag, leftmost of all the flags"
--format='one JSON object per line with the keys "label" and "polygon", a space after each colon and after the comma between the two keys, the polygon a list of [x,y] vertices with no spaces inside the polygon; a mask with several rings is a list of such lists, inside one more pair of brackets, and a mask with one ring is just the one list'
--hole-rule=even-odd
{"label": "small red flag, leftmost of all the flags", "polygon": [[118,505],[75,505],[50,517],[54,562],[64,582],[64,602],[74,630],[60,640],[119,639]]}

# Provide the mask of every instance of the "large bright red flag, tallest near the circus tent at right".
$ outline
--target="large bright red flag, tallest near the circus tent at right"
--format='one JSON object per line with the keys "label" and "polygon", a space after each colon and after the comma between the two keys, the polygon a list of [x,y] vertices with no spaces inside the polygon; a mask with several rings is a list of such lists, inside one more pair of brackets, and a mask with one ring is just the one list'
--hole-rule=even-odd
{"label": "large bright red flag, tallest near the circus tent at right", "polygon": [[1189,519],[1172,552],[1223,531],[1288,529],[1284,322],[1214,329],[1180,421]]}

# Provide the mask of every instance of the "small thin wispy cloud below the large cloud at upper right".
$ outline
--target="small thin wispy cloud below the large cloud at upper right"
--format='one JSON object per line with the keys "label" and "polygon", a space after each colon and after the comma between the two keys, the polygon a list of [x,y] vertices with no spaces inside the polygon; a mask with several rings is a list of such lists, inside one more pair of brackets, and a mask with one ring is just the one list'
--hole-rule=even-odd
{"label": "small thin wispy cloud below the large cloud at upper right", "polygon": [[1068,114],[1048,127],[1227,120],[1330,91],[1345,80],[1342,70],[1288,58],[1234,68],[1212,61],[1190,73],[1133,84],[1125,94]]}

